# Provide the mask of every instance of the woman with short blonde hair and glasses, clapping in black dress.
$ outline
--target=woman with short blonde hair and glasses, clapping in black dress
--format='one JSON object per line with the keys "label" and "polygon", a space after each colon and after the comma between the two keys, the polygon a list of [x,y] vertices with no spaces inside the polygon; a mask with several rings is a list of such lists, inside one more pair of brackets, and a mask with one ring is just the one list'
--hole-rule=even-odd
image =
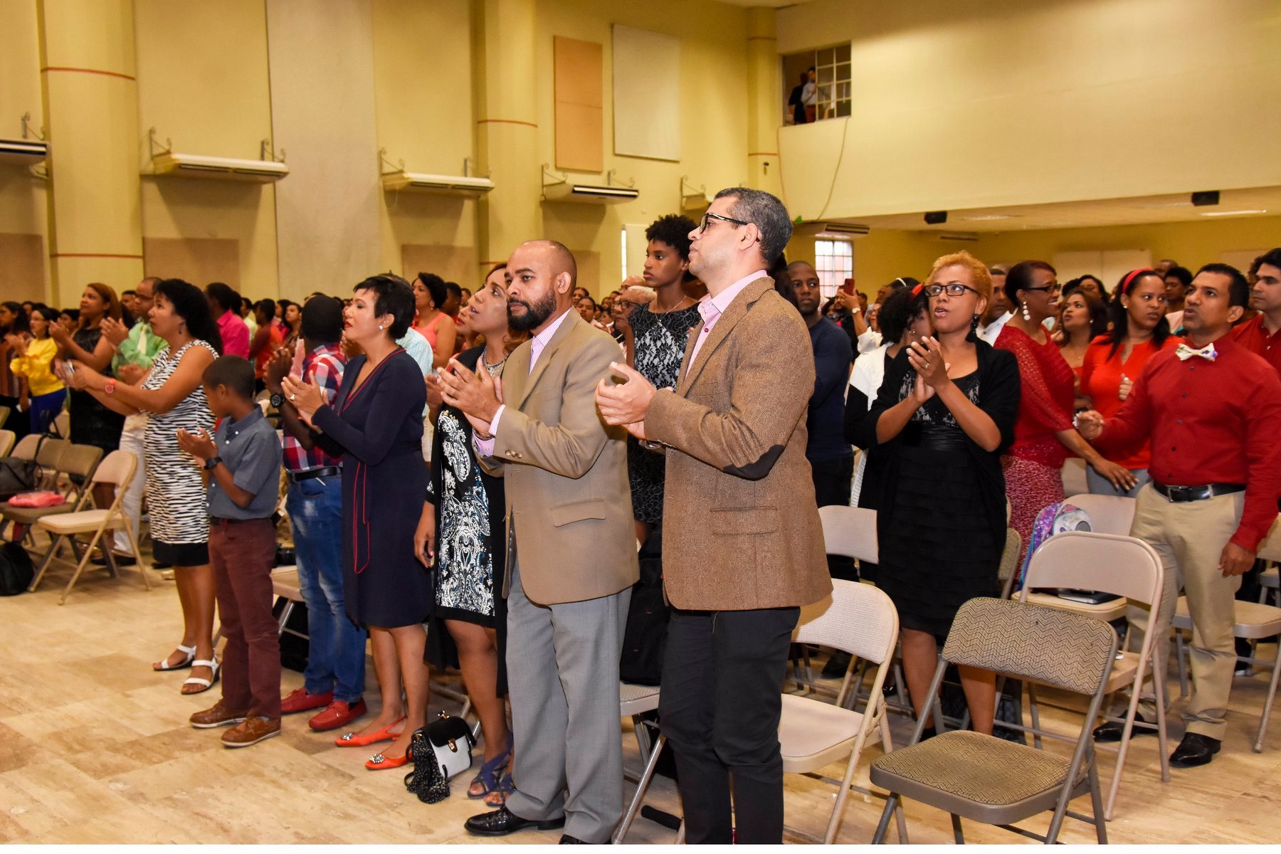
{"label": "woman with short blonde hair and glasses, clapping in black dress", "polygon": [[[917,714],[957,611],[997,595],[1006,545],[1000,451],[1015,438],[1018,366],[974,328],[991,296],[986,265],[944,255],[926,279],[934,335],[908,343],[885,367],[876,402],[852,437],[881,446],[876,584],[898,608],[903,675]],[[866,487],[866,484],[865,484]],[[961,668],[974,729],[991,732],[995,676]],[[934,727],[926,721],[926,737]]]}

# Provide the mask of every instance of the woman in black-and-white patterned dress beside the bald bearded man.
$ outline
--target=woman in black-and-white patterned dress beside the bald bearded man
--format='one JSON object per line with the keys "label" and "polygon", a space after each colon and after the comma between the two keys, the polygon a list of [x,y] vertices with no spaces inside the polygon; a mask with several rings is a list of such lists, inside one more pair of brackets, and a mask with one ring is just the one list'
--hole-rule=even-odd
{"label": "woman in black-and-white patterned dress beside the bald bearded man", "polygon": [[[505,273],[506,265],[492,270],[462,310],[470,330],[483,334],[485,344],[459,353],[455,361],[460,370],[475,371],[483,366],[497,379],[507,355],[524,339],[507,329]],[[502,702],[507,694],[503,667],[507,603],[502,598],[505,513],[502,478],[489,476],[477,462],[466,416],[442,403],[432,440],[432,479],[414,545],[419,560],[428,566],[434,553],[432,622],[443,624],[457,647],[462,680],[484,734],[484,762],[468,796],[484,798],[491,807],[501,807],[512,790],[512,743]],[[453,663],[453,650],[445,640],[445,632],[428,632],[427,658],[436,667]]]}

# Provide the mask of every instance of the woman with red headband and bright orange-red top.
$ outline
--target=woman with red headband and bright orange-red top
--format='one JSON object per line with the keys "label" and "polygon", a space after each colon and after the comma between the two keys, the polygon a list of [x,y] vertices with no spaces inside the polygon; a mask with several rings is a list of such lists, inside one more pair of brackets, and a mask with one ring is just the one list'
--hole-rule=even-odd
{"label": "woman with red headband and bright orange-red top", "polygon": [[[1112,329],[1090,343],[1081,362],[1081,394],[1090,398],[1103,417],[1111,419],[1117,414],[1149,359],[1182,343],[1182,338],[1170,334],[1166,309],[1166,284],[1155,270],[1131,270],[1117,286],[1116,296],[1108,303]],[[1093,469],[1086,469],[1090,492],[1134,498],[1149,480],[1150,460],[1150,443],[1113,460],[1134,475],[1135,483],[1129,489],[1117,489]]]}

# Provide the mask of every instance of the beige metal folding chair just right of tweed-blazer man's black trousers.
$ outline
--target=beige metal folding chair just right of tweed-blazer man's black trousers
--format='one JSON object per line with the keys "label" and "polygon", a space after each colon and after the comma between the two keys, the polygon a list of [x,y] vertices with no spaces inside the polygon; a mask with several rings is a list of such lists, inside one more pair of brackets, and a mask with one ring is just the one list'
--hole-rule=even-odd
{"label": "beige metal folding chair just right of tweed-blazer man's black trousers", "polygon": [[[880,730],[885,752],[893,749],[881,685],[885,684],[894,659],[894,645],[898,643],[898,612],[884,592],[870,584],[844,579],[833,579],[831,585],[830,599],[802,608],[794,640],[833,647],[875,663],[876,672],[867,707],[862,712],[843,708],[843,700],[853,689],[853,673],[847,670],[835,705],[808,697],[784,694],[783,717],[779,722],[783,771],[840,786],[822,837],[828,845],[836,839],[854,768],[867,739]],[[836,781],[816,773],[842,758],[847,758],[844,778]],[[899,822],[901,839],[906,839],[902,814]]]}

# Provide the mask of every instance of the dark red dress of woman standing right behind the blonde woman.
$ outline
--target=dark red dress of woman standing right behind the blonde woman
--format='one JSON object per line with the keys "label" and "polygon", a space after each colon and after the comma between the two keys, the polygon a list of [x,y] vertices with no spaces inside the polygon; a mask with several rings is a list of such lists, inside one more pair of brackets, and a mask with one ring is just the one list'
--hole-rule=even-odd
{"label": "dark red dress of woman standing right behind the blonde woman", "polygon": [[1056,434],[1072,429],[1076,375],[1049,335],[1039,344],[1024,330],[1006,324],[995,346],[1018,360],[1022,384],[1015,442],[1009,446],[1009,456],[1002,458],[1002,466],[1009,497],[1009,526],[1024,538],[1026,548],[1036,513],[1065,497],[1062,469],[1067,448]]}

